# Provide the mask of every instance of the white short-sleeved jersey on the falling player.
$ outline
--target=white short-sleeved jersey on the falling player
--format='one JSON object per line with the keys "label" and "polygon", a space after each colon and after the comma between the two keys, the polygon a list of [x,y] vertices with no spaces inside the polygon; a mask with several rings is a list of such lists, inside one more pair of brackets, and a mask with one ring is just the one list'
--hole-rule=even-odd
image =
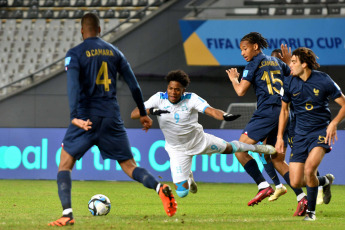
{"label": "white short-sleeved jersey on the falling player", "polygon": [[157,116],[167,144],[174,148],[191,149],[202,141],[204,130],[198,123],[198,113],[204,113],[210,105],[195,93],[184,93],[173,104],[168,93],[158,92],[145,102],[146,108],[167,110],[170,113]]}

